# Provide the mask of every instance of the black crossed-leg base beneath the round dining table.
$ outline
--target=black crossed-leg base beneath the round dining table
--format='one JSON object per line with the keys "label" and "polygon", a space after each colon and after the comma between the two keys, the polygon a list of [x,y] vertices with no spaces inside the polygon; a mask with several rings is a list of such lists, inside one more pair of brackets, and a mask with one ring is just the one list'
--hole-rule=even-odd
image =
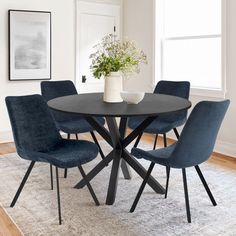
{"label": "black crossed-leg base beneath the round dining table", "polygon": [[[125,137],[127,117],[120,119],[119,128],[114,117],[106,117],[109,131],[100,125],[94,117],[86,117],[89,124],[113,147],[113,150],[87,174],[86,180],[81,180],[76,184],[75,188],[83,188],[86,185],[86,181],[93,179],[109,162],[113,161],[106,198],[106,204],[112,205],[115,202],[120,166],[126,179],[131,179],[129,166],[144,178],[147,173],[145,168],[132,157],[126,150],[126,147],[141,134],[155,118],[156,117],[146,118],[136,129]],[[128,165],[126,163],[128,163]],[[148,184],[156,193],[165,193],[165,189],[152,176],[149,177]]]}

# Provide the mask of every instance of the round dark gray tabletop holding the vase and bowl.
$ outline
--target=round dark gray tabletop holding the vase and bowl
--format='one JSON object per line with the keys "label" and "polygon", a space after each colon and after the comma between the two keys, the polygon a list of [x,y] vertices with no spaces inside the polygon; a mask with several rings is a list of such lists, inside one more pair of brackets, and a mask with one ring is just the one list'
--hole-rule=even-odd
{"label": "round dark gray tabletop holding the vase and bowl", "polygon": [[131,117],[157,116],[191,107],[191,102],[169,95],[146,93],[137,105],[103,102],[103,93],[58,97],[48,102],[53,110],[85,116]]}

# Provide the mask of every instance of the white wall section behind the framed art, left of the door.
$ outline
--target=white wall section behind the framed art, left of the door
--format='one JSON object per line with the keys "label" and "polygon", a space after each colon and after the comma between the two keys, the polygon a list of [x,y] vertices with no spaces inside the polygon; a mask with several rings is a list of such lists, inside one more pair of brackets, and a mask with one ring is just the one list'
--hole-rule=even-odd
{"label": "white wall section behind the framed art, left of the door", "polygon": [[4,99],[40,93],[40,81],[8,81],[8,9],[52,13],[52,78],[74,80],[74,0],[0,1],[0,142],[9,139],[10,124]]}

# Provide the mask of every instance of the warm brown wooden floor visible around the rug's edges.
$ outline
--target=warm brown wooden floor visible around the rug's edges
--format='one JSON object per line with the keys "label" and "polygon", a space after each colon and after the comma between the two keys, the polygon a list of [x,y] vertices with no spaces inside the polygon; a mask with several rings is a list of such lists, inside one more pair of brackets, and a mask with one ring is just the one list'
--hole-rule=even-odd
{"label": "warm brown wooden floor visible around the rug's edges", "polygon": [[[91,140],[91,137],[88,134],[82,134],[80,135],[80,138]],[[142,140],[153,144],[154,136],[145,134],[142,137]],[[158,142],[159,146],[163,146],[163,140],[161,137],[159,138]],[[168,144],[171,144],[173,142],[173,140],[168,139]],[[0,155],[13,153],[15,151],[16,149],[13,143],[0,144]],[[236,171],[236,158],[233,157],[225,156],[219,153],[213,153],[208,162],[212,165],[217,166],[218,168],[225,168],[228,170]],[[5,213],[5,211],[0,207],[0,236],[10,235],[20,236],[21,233]]]}

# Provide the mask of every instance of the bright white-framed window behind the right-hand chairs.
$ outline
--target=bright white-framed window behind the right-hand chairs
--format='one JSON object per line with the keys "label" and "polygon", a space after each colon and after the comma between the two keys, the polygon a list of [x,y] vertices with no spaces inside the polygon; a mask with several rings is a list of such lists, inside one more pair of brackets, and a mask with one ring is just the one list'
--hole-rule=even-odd
{"label": "bright white-framed window behind the right-hand chairs", "polygon": [[157,79],[188,80],[195,91],[224,90],[222,2],[157,0]]}

